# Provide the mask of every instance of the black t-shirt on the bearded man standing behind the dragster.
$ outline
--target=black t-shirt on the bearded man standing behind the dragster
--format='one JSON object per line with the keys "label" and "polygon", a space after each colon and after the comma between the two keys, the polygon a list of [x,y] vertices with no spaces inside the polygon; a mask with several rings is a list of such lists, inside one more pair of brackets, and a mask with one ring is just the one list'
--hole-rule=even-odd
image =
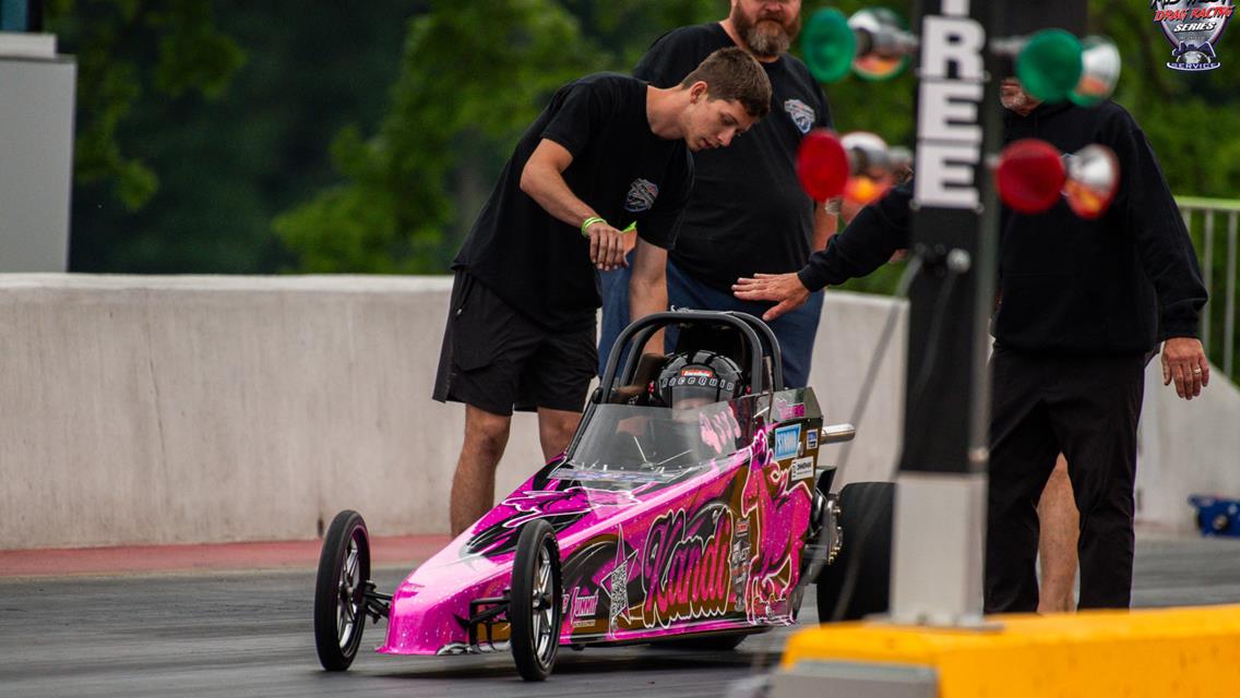
{"label": "black t-shirt on the bearded man standing behind the dragster", "polygon": [[[680,84],[712,51],[735,46],[719,24],[672,30],[634,69],[655,87]],[[796,179],[796,149],[831,126],[831,108],[805,63],[763,63],[771,112],[728,148],[696,152],[693,196],[671,258],[694,279],[730,293],[738,276],[795,272],[810,257],[813,201]]]}

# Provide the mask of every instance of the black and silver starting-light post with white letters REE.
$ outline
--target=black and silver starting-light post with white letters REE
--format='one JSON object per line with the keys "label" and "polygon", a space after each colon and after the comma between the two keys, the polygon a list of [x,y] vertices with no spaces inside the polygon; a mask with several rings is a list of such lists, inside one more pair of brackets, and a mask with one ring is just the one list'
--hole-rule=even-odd
{"label": "black and silver starting-light post with white letters REE", "polygon": [[1085,29],[1084,2],[923,0],[904,453],[892,616],[973,625],[982,611],[990,456],[988,325],[999,207],[987,160],[1002,143],[996,38]]}

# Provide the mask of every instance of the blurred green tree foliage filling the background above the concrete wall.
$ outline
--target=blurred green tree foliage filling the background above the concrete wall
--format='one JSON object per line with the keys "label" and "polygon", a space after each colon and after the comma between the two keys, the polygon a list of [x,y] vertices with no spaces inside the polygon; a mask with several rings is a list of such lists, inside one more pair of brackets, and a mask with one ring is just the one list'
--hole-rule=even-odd
{"label": "blurred green tree foliage filling the background above the concrete wall", "polygon": [[[805,0],[804,16],[826,2]],[[905,2],[841,0],[908,12]],[[522,129],[559,84],[627,72],[727,0],[48,0],[79,63],[71,269],[445,273]],[[1240,191],[1240,38],[1163,67],[1146,2],[1091,0],[1125,58],[1116,100],[1172,190]],[[1240,31],[1240,30],[1238,30]],[[911,145],[915,81],[825,87],[837,128]],[[1221,278],[1224,254],[1216,254]],[[888,293],[899,265],[848,288]],[[1221,304],[1214,304],[1216,312]]]}

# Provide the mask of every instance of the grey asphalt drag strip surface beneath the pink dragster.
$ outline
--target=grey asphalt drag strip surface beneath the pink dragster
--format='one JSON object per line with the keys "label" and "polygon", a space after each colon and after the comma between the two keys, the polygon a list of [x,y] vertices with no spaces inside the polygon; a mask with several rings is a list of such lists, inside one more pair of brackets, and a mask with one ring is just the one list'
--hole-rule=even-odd
{"label": "grey asphalt drag strip surface beneath the pink dragster", "polygon": [[[374,577],[391,590],[405,573]],[[367,626],[353,668],[334,674],[315,657],[312,594],[311,570],[0,579],[0,696],[714,697],[770,667],[792,632],[750,637],[735,652],[562,650],[551,679],[531,684],[506,653],[366,651],[381,624]],[[1240,541],[1138,541],[1133,603],[1240,603]],[[816,617],[812,599],[802,617]]]}

